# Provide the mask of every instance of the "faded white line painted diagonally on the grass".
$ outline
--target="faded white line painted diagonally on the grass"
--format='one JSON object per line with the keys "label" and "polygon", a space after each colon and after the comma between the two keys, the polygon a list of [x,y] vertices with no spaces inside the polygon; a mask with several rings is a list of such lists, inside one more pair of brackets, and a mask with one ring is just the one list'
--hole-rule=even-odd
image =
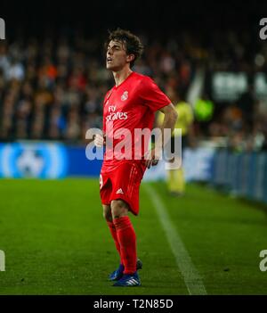
{"label": "faded white line painted diagonally on the grass", "polygon": [[157,210],[158,218],[166,232],[167,240],[170,243],[176,264],[182,273],[188,292],[196,295],[206,294],[206,289],[201,277],[198,274],[198,270],[192,263],[190,255],[182,243],[180,235],[174,227],[171,218],[169,218],[165,204],[161,201],[161,198],[151,185],[144,184],[144,186],[147,193],[150,195],[150,199],[153,202],[155,209]]}

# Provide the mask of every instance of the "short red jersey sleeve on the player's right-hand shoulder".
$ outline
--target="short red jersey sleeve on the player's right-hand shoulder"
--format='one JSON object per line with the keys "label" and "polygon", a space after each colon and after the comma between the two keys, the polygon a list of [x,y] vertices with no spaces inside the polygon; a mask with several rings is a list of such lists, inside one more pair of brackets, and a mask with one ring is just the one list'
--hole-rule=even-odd
{"label": "short red jersey sleeve on the player's right-hand shoulder", "polygon": [[151,111],[158,111],[164,106],[172,103],[149,77],[142,79],[140,97],[142,98],[144,105],[148,106]]}

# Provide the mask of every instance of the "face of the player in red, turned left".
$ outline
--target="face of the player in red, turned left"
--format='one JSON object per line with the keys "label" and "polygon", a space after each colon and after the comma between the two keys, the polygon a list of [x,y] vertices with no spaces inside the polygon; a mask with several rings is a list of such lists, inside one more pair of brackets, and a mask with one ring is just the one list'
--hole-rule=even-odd
{"label": "face of the player in red, turned left", "polygon": [[107,49],[106,67],[108,70],[122,70],[131,57],[126,54],[125,45],[119,41],[111,40]]}

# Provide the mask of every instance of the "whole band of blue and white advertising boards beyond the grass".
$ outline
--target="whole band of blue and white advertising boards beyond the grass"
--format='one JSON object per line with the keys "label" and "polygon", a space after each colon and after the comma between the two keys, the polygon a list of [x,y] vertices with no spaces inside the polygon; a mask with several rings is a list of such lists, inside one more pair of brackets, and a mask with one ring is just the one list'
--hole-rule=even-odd
{"label": "whole band of blue and white advertising boards beyond the grass", "polygon": [[[101,164],[101,160],[87,159],[85,146],[51,142],[0,144],[0,178],[99,177]],[[185,149],[182,167],[186,181],[210,182],[231,194],[267,202],[267,153]],[[159,179],[166,179],[164,161],[144,175],[144,180]]]}

